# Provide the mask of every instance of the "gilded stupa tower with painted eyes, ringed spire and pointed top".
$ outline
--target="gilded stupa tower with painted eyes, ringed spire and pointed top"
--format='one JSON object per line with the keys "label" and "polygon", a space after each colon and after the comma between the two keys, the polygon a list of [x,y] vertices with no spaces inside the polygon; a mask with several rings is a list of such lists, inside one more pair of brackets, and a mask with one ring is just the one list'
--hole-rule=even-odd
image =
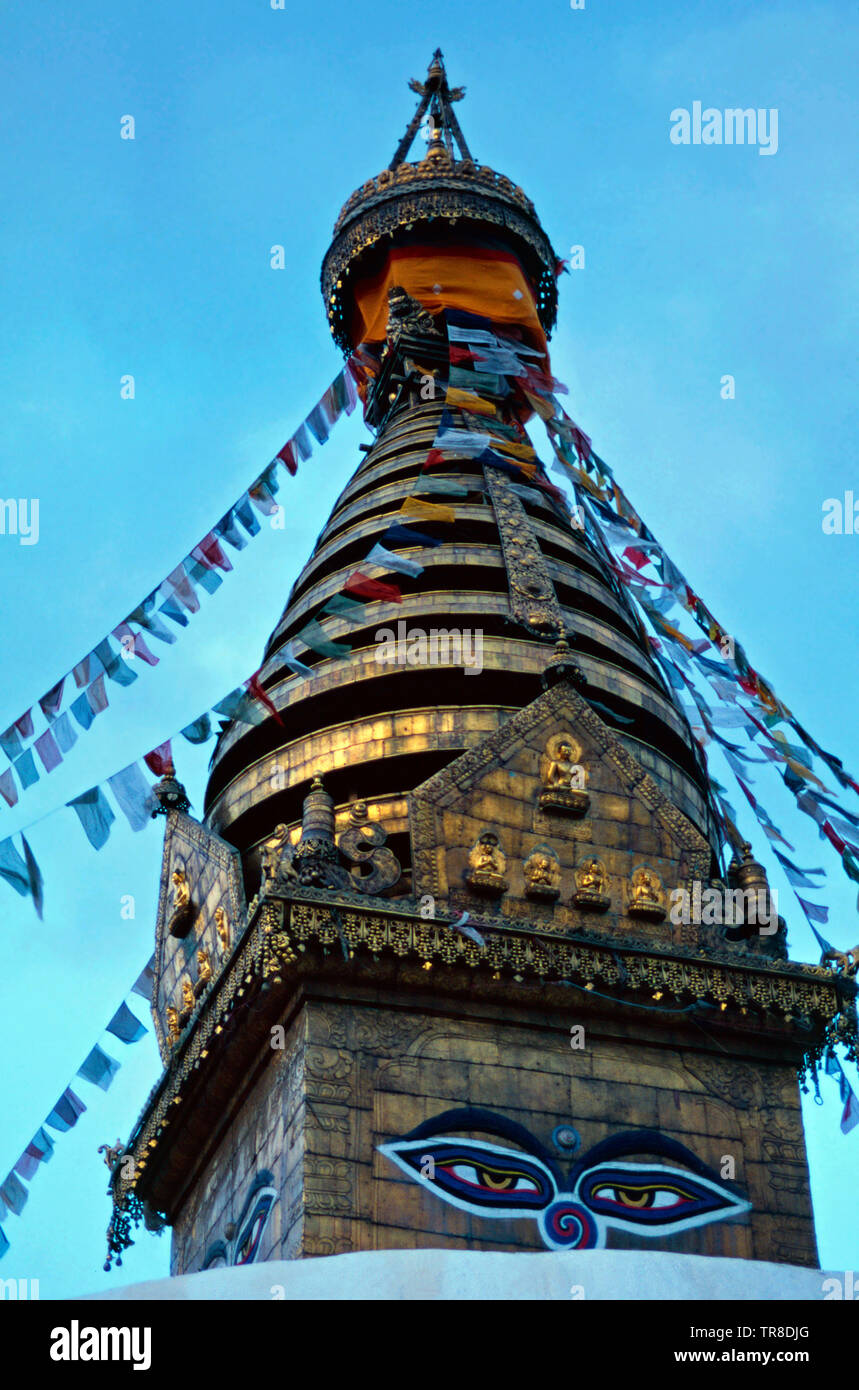
{"label": "gilded stupa tower with painted eyes, ringed spire and pointed top", "polygon": [[531,445],[550,242],[473,158],[441,54],[411,85],[322,265],[374,442],[204,820],[161,785],[164,1073],[114,1244],[143,1212],[174,1273],[420,1245],[815,1265],[796,1068],[837,983],[780,919],[669,910],[766,878],[723,873],[702,753]]}

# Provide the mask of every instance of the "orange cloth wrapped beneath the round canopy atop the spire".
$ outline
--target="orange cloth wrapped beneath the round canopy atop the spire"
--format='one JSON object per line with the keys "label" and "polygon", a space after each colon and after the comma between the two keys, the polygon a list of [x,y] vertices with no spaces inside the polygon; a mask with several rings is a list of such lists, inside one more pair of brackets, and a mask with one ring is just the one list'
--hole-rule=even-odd
{"label": "orange cloth wrapped beneath the round canopy atop the spire", "polygon": [[432,313],[461,309],[493,324],[518,324],[534,346],[546,350],[534,288],[512,252],[467,243],[392,246],[381,271],[356,278],[353,343],[384,342],[393,285]]}

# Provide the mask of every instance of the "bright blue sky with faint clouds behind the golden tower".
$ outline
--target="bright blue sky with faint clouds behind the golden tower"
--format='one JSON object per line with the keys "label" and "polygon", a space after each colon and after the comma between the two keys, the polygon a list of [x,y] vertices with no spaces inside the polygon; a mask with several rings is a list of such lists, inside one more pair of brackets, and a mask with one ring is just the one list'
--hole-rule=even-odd
{"label": "bright blue sky with faint clouds behind the golden tower", "polygon": [[[0,728],[178,563],[331,381],[318,292],[331,228],[389,161],[413,111],[406,82],[441,46],[467,88],[474,156],[521,182],[560,254],[585,247],[552,343],[570,413],[752,663],[859,769],[859,537],[821,531],[824,499],[859,496],[858,32],[842,3],[79,0],[71,14],[11,0],[0,43],[0,493],[40,499],[38,545],[0,537]],[[670,113],[695,100],[777,108],[777,154],[671,145]],[[133,142],[120,139],[126,114]],[[275,243],[284,271],[270,268]],[[121,400],[128,373],[136,395]],[[0,884],[0,1173],[153,944],[160,823],[138,835],[117,823],[95,853],[71,812],[49,813],[259,666],[366,438],[359,420],[341,424],[284,478],[285,530],[264,527],[177,645],[157,648],[160,666],[15,810],[0,805],[0,837],[47,817],[29,837],[44,922]],[[197,812],[206,762],[182,746]],[[796,860],[833,869],[827,934],[853,945],[855,888],[759,773]],[[771,878],[792,954],[816,959],[774,865]],[[3,1276],[39,1277],[43,1297],[167,1272],[168,1237],[140,1234],[101,1273],[96,1150],[128,1134],[158,1074],[152,1034],[108,1051],[124,1063],[113,1088],[79,1083],[88,1113],[57,1137],[22,1219],[4,1222]],[[855,1268],[859,1130],[841,1136],[835,1086],[821,1090],[826,1104],[806,1106],[821,1264]]]}

